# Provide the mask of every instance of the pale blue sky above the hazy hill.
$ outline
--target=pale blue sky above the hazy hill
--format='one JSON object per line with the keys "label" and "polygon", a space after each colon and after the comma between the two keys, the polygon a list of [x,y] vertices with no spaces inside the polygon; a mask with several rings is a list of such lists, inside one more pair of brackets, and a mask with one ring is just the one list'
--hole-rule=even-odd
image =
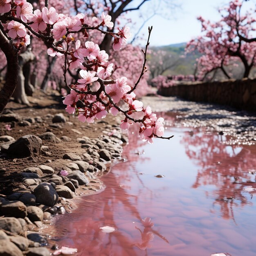
{"label": "pale blue sky above the hazy hill", "polygon": [[[159,2],[155,0],[156,2]],[[168,1],[168,0],[167,0]],[[150,36],[150,45],[170,45],[176,43],[188,42],[192,38],[199,36],[201,32],[201,24],[196,19],[198,16],[211,21],[218,21],[220,14],[218,13],[218,7],[228,4],[230,0],[173,0],[178,4],[181,4],[181,8],[176,8],[173,12],[169,8],[166,16],[168,19],[162,16],[156,15],[145,23],[144,27],[140,31],[140,36],[144,38],[141,40],[141,44],[145,44],[147,39],[148,26],[153,26],[153,31]],[[146,17],[147,13],[150,13],[152,9],[152,2],[146,2],[141,11],[132,11],[128,16],[132,20],[138,20],[136,27],[131,27],[133,35],[134,31],[137,31],[141,24],[139,19],[140,13]],[[256,0],[249,0],[245,2],[245,7],[252,7],[255,9]],[[144,34],[144,36],[143,36]]]}

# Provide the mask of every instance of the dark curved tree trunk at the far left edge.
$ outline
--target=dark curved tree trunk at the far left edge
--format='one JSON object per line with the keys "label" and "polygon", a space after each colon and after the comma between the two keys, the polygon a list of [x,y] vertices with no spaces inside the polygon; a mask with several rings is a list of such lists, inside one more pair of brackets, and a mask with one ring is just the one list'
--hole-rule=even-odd
{"label": "dark curved tree trunk at the far left edge", "polygon": [[0,30],[0,49],[7,59],[7,74],[4,88],[0,91],[0,113],[4,110],[18,82],[18,50]]}

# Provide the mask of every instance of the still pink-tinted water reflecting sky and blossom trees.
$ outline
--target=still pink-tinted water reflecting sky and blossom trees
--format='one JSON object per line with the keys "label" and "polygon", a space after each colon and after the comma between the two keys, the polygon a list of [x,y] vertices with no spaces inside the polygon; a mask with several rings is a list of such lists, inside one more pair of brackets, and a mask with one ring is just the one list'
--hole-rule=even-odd
{"label": "still pink-tinted water reflecting sky and blossom trees", "polygon": [[[65,234],[57,243],[78,248],[77,256],[255,256],[256,146],[188,128],[168,135],[175,137],[154,145],[131,135],[127,162],[102,178],[105,191],[56,217]],[[105,225],[116,231],[103,233]]]}

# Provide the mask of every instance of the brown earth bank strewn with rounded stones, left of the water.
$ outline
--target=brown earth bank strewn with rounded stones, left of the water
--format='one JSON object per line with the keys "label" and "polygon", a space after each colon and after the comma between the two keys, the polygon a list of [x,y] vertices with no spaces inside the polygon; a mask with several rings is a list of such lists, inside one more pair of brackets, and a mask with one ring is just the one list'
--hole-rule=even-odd
{"label": "brown earth bank strewn with rounded stones, left of the water", "polygon": [[121,159],[127,137],[111,117],[88,125],[17,106],[0,116],[0,255],[48,256],[42,228],[70,212],[72,198],[104,188],[98,177]]}

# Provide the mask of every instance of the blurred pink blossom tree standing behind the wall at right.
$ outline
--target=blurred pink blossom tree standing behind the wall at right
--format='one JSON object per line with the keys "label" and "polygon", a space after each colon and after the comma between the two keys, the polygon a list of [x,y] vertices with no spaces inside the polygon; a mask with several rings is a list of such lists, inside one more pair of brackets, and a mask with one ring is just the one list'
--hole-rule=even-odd
{"label": "blurred pink blossom tree standing behind the wall at right", "polygon": [[210,22],[199,17],[202,24],[202,35],[192,39],[187,44],[187,52],[198,51],[202,54],[198,58],[198,74],[200,80],[214,70],[221,70],[227,77],[230,65],[243,65],[243,77],[248,77],[252,67],[256,63],[256,43],[245,42],[241,35],[248,36],[254,30],[255,22],[253,13],[241,14],[243,2],[236,0],[229,2],[224,8],[219,9],[221,19],[218,22]]}

